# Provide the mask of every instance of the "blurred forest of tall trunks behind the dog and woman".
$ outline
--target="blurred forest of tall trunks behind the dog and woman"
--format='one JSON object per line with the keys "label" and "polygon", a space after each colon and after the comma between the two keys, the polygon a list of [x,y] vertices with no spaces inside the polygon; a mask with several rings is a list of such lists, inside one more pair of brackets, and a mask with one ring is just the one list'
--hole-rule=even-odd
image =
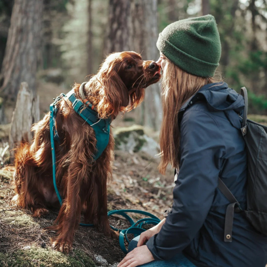
{"label": "blurred forest of tall trunks behind the dog and woman", "polygon": [[[225,81],[237,92],[246,86],[249,112],[267,115],[266,0],[0,0],[1,123],[10,122],[22,81],[40,96],[42,117],[53,97],[88,80],[108,53],[135,50],[157,60],[158,33],[203,14],[218,24]],[[160,86],[148,88],[147,98],[135,123],[158,130]]]}

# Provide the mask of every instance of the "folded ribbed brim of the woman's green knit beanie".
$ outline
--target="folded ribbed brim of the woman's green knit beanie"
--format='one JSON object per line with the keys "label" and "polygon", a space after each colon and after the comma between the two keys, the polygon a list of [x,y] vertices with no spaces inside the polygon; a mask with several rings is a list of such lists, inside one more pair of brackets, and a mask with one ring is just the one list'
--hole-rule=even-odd
{"label": "folded ribbed brim of the woman's green knit beanie", "polygon": [[161,33],[159,34],[156,46],[159,51],[175,65],[196,76],[212,77],[214,76],[216,68],[219,66],[218,63],[216,64],[203,61],[185,53],[176,46],[172,45],[168,40],[165,40]]}

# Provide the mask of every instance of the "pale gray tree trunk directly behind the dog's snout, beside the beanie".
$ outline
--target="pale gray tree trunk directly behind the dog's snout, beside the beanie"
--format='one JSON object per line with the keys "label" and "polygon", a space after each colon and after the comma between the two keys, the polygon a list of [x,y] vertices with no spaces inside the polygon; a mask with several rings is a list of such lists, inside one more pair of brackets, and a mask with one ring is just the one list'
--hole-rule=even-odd
{"label": "pale gray tree trunk directly behind the dog's snout, beside the beanie", "polygon": [[[131,3],[130,49],[142,54],[143,60],[157,60],[159,51],[156,48],[158,39],[157,0],[134,0]],[[159,83],[146,88],[144,102],[135,110],[137,123],[160,128],[162,105]]]}

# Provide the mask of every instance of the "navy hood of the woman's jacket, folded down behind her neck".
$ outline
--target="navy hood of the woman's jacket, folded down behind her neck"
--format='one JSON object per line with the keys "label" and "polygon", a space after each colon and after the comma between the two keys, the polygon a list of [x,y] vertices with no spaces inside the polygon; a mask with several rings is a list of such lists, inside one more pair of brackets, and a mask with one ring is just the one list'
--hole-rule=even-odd
{"label": "navy hood of the woman's jacket, folded down behind her neck", "polygon": [[180,111],[184,111],[198,101],[206,101],[210,111],[226,111],[233,109],[241,113],[244,109],[244,98],[229,88],[227,83],[211,83],[201,87],[195,95],[190,97]]}

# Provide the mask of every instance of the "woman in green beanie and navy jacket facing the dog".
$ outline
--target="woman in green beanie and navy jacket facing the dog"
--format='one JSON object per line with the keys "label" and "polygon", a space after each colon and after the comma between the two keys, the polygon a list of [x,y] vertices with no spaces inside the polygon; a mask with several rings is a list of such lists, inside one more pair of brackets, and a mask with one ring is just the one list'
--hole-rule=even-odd
{"label": "woman in green beanie and navy jacket facing the dog", "polygon": [[118,267],[264,267],[267,237],[243,212],[234,213],[231,242],[224,241],[229,201],[217,188],[218,177],[246,207],[245,144],[232,125],[241,125],[234,113],[242,116],[244,100],[214,76],[221,56],[214,17],[170,24],[157,47],[163,70],[159,171],[169,163],[177,168],[174,202],[167,218],[131,241]]}

